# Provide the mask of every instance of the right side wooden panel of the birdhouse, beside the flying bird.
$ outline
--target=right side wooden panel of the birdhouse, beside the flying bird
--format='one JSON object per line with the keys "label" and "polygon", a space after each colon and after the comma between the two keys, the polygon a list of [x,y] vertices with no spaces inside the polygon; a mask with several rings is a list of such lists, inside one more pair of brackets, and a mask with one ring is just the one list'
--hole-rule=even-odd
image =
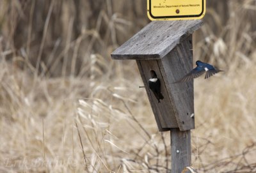
{"label": "right side wooden panel of the birdhouse, beside the flying bird", "polygon": [[192,35],[183,40],[161,61],[159,68],[163,74],[164,83],[173,112],[179,124],[180,130],[191,130],[195,128],[194,114],[194,87],[193,80],[173,84],[193,69],[193,46]]}

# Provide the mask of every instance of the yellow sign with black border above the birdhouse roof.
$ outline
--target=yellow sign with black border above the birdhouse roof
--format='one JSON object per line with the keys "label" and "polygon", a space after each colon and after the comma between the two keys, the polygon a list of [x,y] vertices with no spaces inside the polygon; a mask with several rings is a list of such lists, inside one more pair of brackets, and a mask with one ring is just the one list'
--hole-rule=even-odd
{"label": "yellow sign with black border above the birdhouse roof", "polygon": [[205,15],[205,0],[147,0],[150,20],[202,19]]}

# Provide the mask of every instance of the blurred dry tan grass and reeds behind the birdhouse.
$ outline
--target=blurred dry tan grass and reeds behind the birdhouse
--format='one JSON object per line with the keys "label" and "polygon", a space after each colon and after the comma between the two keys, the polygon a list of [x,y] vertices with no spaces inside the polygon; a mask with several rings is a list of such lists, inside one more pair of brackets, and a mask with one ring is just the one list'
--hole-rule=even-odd
{"label": "blurred dry tan grass and reeds behind the birdhouse", "polygon": [[[170,171],[136,63],[109,56],[148,23],[145,6],[0,1],[0,172]],[[256,172],[256,1],[208,6],[195,60],[225,72],[195,80],[192,166]]]}

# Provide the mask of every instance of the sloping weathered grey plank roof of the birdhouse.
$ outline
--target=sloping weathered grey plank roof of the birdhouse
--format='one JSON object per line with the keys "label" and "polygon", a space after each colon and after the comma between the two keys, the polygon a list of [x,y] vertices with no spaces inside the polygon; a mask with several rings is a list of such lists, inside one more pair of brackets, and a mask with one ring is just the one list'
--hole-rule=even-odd
{"label": "sloping weathered grey plank roof of the birdhouse", "polygon": [[112,52],[113,59],[161,59],[183,38],[202,26],[202,20],[153,21]]}

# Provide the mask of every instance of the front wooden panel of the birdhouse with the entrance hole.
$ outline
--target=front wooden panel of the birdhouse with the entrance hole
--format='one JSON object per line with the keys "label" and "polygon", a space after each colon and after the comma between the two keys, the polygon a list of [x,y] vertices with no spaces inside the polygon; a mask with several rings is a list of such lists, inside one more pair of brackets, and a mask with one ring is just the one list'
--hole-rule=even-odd
{"label": "front wooden panel of the birdhouse with the entrance hole", "polygon": [[[177,128],[179,126],[177,124],[176,117],[173,112],[172,103],[170,102],[168,91],[166,89],[166,87],[168,86],[166,86],[166,84],[164,83],[163,74],[159,69],[159,61],[161,60],[141,60],[136,62],[138,64],[141,78],[147,91],[148,100],[156,118],[158,129],[160,132],[163,132],[170,130],[170,128]],[[150,70],[154,70],[156,72],[157,78],[161,82],[161,93],[163,94],[164,99],[161,100],[160,103],[158,103],[156,96],[154,96],[154,94],[148,87]]]}

